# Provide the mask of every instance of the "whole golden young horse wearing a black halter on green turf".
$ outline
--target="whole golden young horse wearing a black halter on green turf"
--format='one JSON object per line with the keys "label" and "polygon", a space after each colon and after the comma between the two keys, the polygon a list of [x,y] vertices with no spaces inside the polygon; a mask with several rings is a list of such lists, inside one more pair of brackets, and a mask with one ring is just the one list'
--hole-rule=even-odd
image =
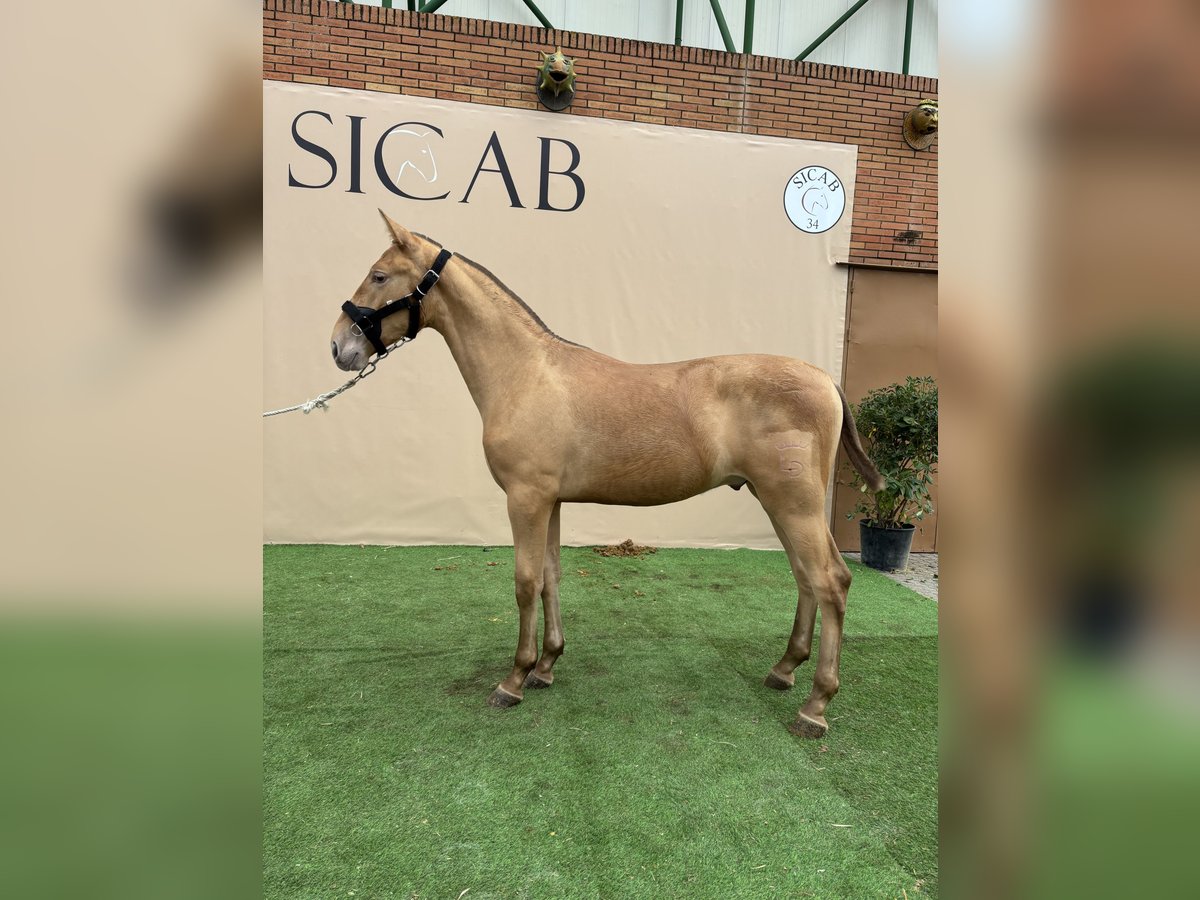
{"label": "whole golden young horse wearing a black halter on green turf", "polygon": [[791,730],[824,734],[850,588],[824,511],[839,440],[868,484],[882,486],[841,389],[815,366],[785,356],[647,366],[580,347],[551,332],[481,265],[383,217],[391,246],[343,305],[334,325],[334,359],[346,371],[362,368],[373,353],[432,328],[450,346],[479,407],[487,466],[508,496],[521,620],[512,671],[488,703],[511,707],[524,688],[554,680],[563,653],[563,503],[648,506],[720,485],[749,485],[799,586],[792,637],[766,684],[778,690],[794,684],[820,606],[812,692]]}

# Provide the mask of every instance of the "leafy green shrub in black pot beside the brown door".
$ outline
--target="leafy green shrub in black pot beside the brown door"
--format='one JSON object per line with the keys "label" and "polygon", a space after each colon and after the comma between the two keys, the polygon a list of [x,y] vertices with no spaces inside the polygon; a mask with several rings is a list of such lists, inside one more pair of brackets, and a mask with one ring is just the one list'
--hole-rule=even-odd
{"label": "leafy green shrub in black pot beside the brown door", "polygon": [[850,517],[863,516],[863,563],[884,571],[906,569],[914,522],[934,511],[929,488],[937,470],[937,384],[929,376],[910,376],[904,384],[877,388],[854,407],[854,421],[884,479],[877,493],[858,473],[851,482],[862,492]]}

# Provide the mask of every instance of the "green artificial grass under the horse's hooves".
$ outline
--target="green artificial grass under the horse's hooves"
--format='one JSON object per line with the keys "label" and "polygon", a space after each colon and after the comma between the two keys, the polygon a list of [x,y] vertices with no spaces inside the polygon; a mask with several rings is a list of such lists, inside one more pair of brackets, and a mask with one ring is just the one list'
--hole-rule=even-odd
{"label": "green artificial grass under the horse's hooves", "polygon": [[266,547],[265,896],[936,896],[937,608],[851,568],[805,742],[782,553],[564,548],[554,684],[496,710],[511,547]]}

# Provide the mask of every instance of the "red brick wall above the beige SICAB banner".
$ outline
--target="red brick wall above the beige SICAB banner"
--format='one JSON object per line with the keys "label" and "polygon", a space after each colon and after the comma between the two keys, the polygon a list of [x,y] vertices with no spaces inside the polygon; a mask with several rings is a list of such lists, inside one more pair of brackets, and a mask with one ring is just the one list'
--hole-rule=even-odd
{"label": "red brick wall above the beige SICAB banner", "polygon": [[562,115],[857,144],[851,262],[937,268],[937,144],[914,151],[900,131],[907,109],[937,96],[936,78],[355,4],[263,2],[271,80],[534,109],[538,50],[559,46],[580,74]]}

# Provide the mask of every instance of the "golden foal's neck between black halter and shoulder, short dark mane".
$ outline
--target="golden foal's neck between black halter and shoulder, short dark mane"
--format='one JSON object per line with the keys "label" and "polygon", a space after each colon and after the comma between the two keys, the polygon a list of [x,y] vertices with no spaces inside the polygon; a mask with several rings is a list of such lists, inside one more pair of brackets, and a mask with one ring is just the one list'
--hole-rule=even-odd
{"label": "golden foal's neck between black halter and shoulder, short dark mane", "polygon": [[426,324],[442,332],[486,420],[527,373],[547,364],[556,338],[508,290],[462,258],[446,266],[433,296]]}

